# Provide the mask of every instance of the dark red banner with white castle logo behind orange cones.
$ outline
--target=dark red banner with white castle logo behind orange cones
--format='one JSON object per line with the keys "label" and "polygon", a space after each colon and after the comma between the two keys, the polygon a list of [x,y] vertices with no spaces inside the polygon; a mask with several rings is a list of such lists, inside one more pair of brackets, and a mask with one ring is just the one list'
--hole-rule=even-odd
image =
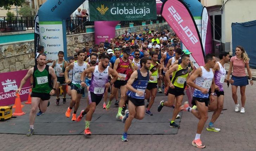
{"label": "dark red banner with white castle logo behind orange cones", "polygon": [[[28,70],[20,70],[8,73],[0,73],[0,106],[14,104],[15,90],[19,88],[20,81],[27,74],[27,71]],[[20,91],[21,101],[27,101],[30,88],[30,79],[28,79]]]}

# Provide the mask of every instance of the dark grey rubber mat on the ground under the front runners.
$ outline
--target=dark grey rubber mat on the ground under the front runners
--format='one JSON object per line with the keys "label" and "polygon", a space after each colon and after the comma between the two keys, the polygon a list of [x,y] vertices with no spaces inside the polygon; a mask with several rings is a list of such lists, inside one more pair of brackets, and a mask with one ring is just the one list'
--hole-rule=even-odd
{"label": "dark grey rubber mat on the ground under the front runners", "polygon": [[[144,119],[134,119],[128,133],[130,135],[177,134],[178,129],[170,128],[172,113],[153,113]],[[182,112],[179,113],[182,116]],[[124,123],[115,118],[116,113],[94,114],[90,124],[92,135],[121,135]],[[0,123],[0,133],[26,134],[29,128],[29,114],[11,118]],[[34,135],[83,135],[85,117],[80,122],[71,121],[64,114],[46,113],[37,116],[34,123]],[[179,124],[180,119],[175,122]]]}

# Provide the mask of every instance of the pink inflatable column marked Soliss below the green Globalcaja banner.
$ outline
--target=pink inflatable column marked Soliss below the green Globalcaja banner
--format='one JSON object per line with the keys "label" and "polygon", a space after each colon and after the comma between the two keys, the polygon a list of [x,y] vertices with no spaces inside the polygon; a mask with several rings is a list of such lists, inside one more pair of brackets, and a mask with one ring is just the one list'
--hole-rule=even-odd
{"label": "pink inflatable column marked Soliss below the green Globalcaja banner", "polygon": [[94,36],[95,44],[105,42],[105,39],[116,36],[116,25],[120,21],[95,21],[94,22]]}

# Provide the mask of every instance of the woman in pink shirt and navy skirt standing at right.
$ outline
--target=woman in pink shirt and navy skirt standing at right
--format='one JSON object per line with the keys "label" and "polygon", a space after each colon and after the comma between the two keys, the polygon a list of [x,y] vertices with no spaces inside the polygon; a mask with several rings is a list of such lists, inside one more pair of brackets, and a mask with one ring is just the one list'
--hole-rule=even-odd
{"label": "woman in pink shirt and navy skirt standing at right", "polygon": [[252,76],[251,76],[251,70],[249,67],[249,57],[247,53],[245,52],[244,48],[242,46],[236,47],[236,55],[231,57],[230,59],[230,67],[227,78],[229,78],[231,71],[233,69],[232,77],[231,79],[234,80],[234,83],[232,84],[232,97],[235,102],[235,112],[239,111],[239,104],[237,101],[237,87],[240,86],[240,93],[241,93],[241,103],[242,108],[240,113],[244,113],[244,105],[245,105],[245,87],[248,85],[248,79],[245,74],[244,67],[247,68],[248,75],[250,77],[250,84],[253,84]]}

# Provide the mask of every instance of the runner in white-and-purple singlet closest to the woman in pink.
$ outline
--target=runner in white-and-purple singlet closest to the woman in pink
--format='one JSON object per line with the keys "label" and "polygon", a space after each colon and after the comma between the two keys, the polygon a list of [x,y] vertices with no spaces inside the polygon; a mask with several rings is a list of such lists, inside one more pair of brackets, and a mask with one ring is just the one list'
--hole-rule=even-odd
{"label": "runner in white-and-purple singlet closest to the woman in pink", "polygon": [[[224,64],[228,63],[228,61],[230,60],[229,53],[221,52],[219,54],[219,59],[220,61],[216,62],[213,68],[213,71],[215,71],[215,74],[214,74],[214,82],[215,82],[215,92],[214,92],[215,99],[214,100],[215,101],[209,104],[209,110],[214,111],[214,113],[212,115],[209,125],[206,128],[207,131],[213,131],[213,132],[220,131],[220,129],[215,128],[213,123],[217,120],[217,118],[219,117],[223,109],[223,102],[224,102],[223,83],[228,82],[232,84],[234,82],[232,79],[228,80],[227,78],[225,78],[226,70],[225,70]],[[211,92],[211,89],[209,90],[209,92]]]}

